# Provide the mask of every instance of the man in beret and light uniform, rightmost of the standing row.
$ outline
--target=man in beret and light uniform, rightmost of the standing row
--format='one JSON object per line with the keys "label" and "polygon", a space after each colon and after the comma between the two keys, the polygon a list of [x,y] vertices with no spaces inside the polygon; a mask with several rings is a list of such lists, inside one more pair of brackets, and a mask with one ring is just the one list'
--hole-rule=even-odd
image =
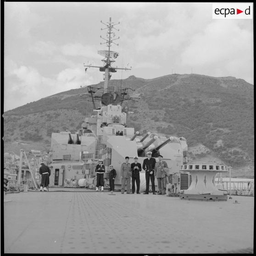
{"label": "man in beret and light uniform, rightmost of the standing row", "polygon": [[165,189],[166,189],[165,168],[168,168],[168,166],[167,166],[167,162],[163,161],[163,157],[161,155],[158,156],[158,160],[159,161],[156,162],[156,166],[155,166],[155,173],[156,173],[157,186],[158,186],[157,195],[165,195]]}

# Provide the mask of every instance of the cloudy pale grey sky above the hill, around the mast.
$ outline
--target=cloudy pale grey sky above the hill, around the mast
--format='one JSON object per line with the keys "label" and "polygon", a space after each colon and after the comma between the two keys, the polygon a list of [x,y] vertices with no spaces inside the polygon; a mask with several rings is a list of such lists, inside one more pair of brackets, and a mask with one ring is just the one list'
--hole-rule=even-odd
{"label": "cloudy pale grey sky above the hill, around the mast", "polygon": [[211,3],[5,2],[4,111],[103,81],[106,23],[120,31],[112,79],[178,73],[253,81],[253,20],[212,19]]}

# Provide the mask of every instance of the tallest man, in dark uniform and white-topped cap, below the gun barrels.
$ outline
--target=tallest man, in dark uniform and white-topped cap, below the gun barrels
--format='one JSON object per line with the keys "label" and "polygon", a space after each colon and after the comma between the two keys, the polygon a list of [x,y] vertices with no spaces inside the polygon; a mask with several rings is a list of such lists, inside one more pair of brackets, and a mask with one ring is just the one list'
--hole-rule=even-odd
{"label": "tallest man, in dark uniform and white-topped cap, below the gun barrels", "polygon": [[147,152],[147,158],[144,159],[142,168],[145,170],[145,178],[146,178],[146,191],[143,194],[149,194],[149,181],[151,180],[151,187],[153,195],[156,195],[155,193],[155,176],[154,176],[154,170],[156,165],[156,159],[151,158],[152,152]]}

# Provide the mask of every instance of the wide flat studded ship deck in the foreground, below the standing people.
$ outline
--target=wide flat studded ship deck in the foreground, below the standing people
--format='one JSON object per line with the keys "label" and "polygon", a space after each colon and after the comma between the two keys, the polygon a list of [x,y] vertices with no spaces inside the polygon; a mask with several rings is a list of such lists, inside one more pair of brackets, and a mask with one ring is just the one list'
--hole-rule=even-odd
{"label": "wide flat studded ship deck in the foreground, below the standing people", "polygon": [[254,197],[114,194],[57,188],[6,194],[4,252],[253,253]]}

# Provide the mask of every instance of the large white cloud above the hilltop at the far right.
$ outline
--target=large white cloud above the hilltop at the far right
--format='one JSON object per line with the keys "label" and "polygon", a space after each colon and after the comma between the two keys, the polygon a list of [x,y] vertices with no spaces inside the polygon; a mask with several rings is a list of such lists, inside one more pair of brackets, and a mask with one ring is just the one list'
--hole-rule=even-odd
{"label": "large white cloud above the hilltop at the far right", "polygon": [[[190,40],[181,54],[181,64],[207,75],[242,78],[246,72],[252,73],[252,41],[252,33],[234,22],[217,20]],[[248,65],[247,70],[242,63]]]}

